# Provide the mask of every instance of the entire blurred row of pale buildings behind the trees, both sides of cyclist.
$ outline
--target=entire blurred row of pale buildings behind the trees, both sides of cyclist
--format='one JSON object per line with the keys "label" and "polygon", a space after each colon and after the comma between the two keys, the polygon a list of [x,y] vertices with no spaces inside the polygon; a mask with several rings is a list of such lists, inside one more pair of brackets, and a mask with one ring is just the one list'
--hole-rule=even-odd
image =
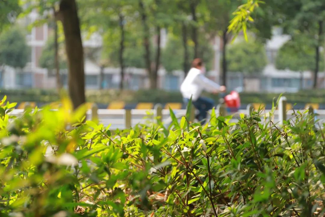
{"label": "entire blurred row of pale buildings behind the trees, both sides of cyclist", "polygon": [[[31,12],[22,22],[28,26],[37,19],[37,13]],[[31,59],[22,70],[6,67],[4,73],[4,82],[1,88],[50,88],[56,86],[55,75],[48,73],[46,69],[39,66],[39,58],[42,55],[42,49],[48,39],[51,29],[47,24],[33,27],[26,36],[27,44],[31,47]],[[228,72],[227,87],[229,90],[237,89],[248,92],[296,92],[300,89],[312,87],[312,72],[292,72],[290,70],[277,70],[274,61],[279,48],[290,39],[290,36],[283,35],[279,29],[275,29],[273,37],[266,43],[266,54],[268,65],[263,72],[257,72],[254,75],[244,75],[242,73]],[[167,33],[162,30],[162,47],[166,45]],[[98,48],[102,46],[102,38],[99,34],[93,34],[89,39],[83,40],[85,48]],[[219,81],[220,77],[220,58],[222,46],[221,40],[215,38],[212,42],[214,48],[213,70],[208,72],[208,77]],[[100,67],[94,62],[85,60],[85,87],[87,89],[99,89],[100,84],[103,88],[118,88],[120,84],[120,69],[105,68],[104,79],[100,80]],[[164,69],[159,70],[158,87],[170,91],[178,91],[184,73],[175,71],[167,73]],[[61,81],[67,85],[67,70],[61,70]],[[140,88],[149,88],[149,78],[145,69],[126,68],[124,87],[137,90]],[[325,73],[318,73],[318,87],[325,88]]]}

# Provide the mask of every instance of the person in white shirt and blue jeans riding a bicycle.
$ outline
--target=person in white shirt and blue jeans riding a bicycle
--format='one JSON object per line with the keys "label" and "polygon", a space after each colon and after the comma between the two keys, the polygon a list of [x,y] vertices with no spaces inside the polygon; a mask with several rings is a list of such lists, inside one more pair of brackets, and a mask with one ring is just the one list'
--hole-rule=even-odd
{"label": "person in white shirt and blue jeans riding a bicycle", "polygon": [[200,58],[194,59],[192,68],[189,70],[180,88],[185,104],[188,104],[189,100],[192,98],[194,107],[199,110],[199,114],[196,118],[202,124],[206,121],[207,112],[214,106],[214,101],[212,99],[201,97],[202,91],[205,90],[212,93],[226,91],[225,86],[220,86],[205,77],[204,74],[205,67],[203,61]]}

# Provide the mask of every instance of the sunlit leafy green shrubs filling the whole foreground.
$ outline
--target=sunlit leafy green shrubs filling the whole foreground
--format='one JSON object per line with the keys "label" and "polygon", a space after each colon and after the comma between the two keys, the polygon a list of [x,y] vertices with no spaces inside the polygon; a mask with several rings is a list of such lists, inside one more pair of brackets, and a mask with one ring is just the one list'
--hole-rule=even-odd
{"label": "sunlit leafy green shrubs filling the whole foreground", "polygon": [[[5,102],[3,99],[2,102]],[[111,131],[85,107],[0,108],[1,216],[322,216],[324,129],[295,113],[277,127],[179,121]],[[272,116],[272,115],[271,115]],[[314,214],[318,212],[318,214]]]}

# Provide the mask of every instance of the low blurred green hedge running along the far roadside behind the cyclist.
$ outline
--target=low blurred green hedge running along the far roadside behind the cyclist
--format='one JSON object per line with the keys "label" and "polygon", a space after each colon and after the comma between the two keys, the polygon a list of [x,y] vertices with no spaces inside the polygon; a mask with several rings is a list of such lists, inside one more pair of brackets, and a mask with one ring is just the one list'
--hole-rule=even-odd
{"label": "low blurred green hedge running along the far roadside behind the cyclist", "polygon": [[[1,90],[0,97],[6,95],[12,102],[55,102],[59,100],[59,95],[53,90],[26,89],[26,90]],[[204,94],[218,101],[218,95]],[[297,93],[283,93],[289,103],[319,103],[325,104],[325,91],[323,90],[305,90]],[[272,104],[274,99],[279,96],[278,93],[240,93],[242,104],[252,102],[262,102]],[[168,92],[164,90],[87,90],[86,99],[88,102],[97,102],[109,104],[114,101],[123,101],[125,103],[138,102],[182,102],[182,96],[179,92]]]}

